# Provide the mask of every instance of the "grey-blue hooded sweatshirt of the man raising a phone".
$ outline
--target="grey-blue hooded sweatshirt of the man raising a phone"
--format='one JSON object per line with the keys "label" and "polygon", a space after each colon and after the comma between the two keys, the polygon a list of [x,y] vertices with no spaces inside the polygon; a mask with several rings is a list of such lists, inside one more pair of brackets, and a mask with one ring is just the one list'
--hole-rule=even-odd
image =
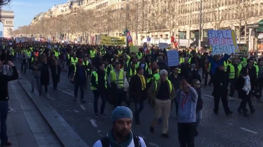
{"label": "grey-blue hooded sweatshirt of the man raising a phone", "polygon": [[184,94],[181,89],[176,92],[178,102],[178,122],[195,122],[195,111],[198,94],[193,87],[189,87],[189,94]]}

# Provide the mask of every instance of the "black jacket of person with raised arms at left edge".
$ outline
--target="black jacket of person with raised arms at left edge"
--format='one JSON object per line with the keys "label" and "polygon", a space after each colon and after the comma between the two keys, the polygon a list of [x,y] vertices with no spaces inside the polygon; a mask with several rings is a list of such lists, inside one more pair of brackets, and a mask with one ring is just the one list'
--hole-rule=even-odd
{"label": "black jacket of person with raised arms at left edge", "polygon": [[8,82],[18,79],[18,72],[16,67],[13,66],[12,69],[12,76],[4,75],[2,72],[0,72],[0,101],[7,101],[9,99]]}

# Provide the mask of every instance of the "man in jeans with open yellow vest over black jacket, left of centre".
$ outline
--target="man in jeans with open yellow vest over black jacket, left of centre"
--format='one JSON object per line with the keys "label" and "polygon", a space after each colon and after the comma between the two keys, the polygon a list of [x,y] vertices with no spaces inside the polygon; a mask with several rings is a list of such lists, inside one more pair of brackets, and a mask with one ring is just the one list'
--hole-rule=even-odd
{"label": "man in jeans with open yellow vest over black jacket, left of centre", "polygon": [[91,74],[91,87],[90,89],[93,90],[94,94],[94,113],[95,117],[99,117],[98,115],[98,99],[101,96],[101,109],[100,115],[102,117],[106,117],[104,114],[104,109],[106,105],[106,97],[107,97],[107,88],[108,88],[108,79],[107,74],[104,71],[105,65],[103,63],[99,64],[99,69],[96,69]]}

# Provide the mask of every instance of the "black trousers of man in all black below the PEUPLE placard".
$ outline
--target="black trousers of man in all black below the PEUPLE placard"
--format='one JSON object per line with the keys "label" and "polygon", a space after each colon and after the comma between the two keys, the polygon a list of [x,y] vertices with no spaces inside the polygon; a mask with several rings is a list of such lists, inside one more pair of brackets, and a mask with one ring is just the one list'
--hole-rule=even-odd
{"label": "black trousers of man in all black below the PEUPLE placard", "polygon": [[221,98],[221,101],[224,107],[224,111],[228,112],[229,107],[228,107],[228,101],[227,101],[227,90],[226,91],[221,90],[220,92],[216,92],[216,94],[214,94],[214,111],[218,112],[219,110],[220,98]]}

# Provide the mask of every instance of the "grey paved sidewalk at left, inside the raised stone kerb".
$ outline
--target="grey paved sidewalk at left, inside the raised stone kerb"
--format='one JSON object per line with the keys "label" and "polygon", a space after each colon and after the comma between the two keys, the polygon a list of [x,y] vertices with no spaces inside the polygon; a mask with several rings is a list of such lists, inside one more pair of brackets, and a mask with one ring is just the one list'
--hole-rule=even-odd
{"label": "grey paved sidewalk at left, inside the raised stone kerb", "polygon": [[18,81],[8,84],[9,108],[7,131],[13,147],[61,147],[49,125]]}

